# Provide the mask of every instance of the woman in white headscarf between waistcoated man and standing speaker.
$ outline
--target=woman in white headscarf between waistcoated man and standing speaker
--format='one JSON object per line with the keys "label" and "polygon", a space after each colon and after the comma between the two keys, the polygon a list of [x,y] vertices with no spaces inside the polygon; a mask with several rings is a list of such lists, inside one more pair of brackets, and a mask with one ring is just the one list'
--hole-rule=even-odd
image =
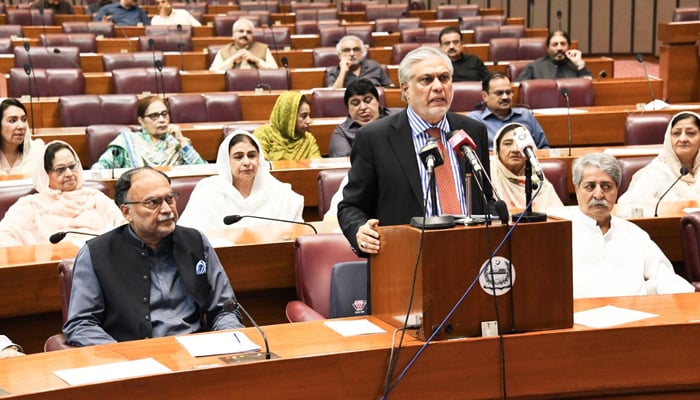
{"label": "woman in white headscarf between waistcoated man and standing speaker", "polygon": [[[222,229],[227,215],[254,215],[303,222],[304,197],[288,183],[270,174],[260,143],[250,133],[237,130],[219,146],[218,175],[195,186],[178,224],[199,230]],[[243,218],[237,225],[269,224]]]}

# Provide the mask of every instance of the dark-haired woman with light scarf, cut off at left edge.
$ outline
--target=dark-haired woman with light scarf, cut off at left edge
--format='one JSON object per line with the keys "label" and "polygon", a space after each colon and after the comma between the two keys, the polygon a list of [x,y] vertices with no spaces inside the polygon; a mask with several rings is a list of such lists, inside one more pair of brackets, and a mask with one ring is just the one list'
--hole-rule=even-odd
{"label": "dark-haired woman with light scarf, cut off at left edge", "polygon": [[17,99],[2,99],[0,117],[0,175],[31,173],[41,157],[44,142],[32,140],[27,110]]}

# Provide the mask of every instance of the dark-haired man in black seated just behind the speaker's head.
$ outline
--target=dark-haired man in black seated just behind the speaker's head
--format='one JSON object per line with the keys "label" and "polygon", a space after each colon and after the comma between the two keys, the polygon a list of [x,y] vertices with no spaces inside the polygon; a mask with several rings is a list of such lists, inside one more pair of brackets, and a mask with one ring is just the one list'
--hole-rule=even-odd
{"label": "dark-haired man in black seated just behind the speaker's head", "polygon": [[462,32],[454,26],[447,26],[440,31],[438,36],[440,49],[450,57],[455,72],[452,74],[452,82],[481,81],[486,78],[489,71],[484,62],[473,54],[462,53]]}

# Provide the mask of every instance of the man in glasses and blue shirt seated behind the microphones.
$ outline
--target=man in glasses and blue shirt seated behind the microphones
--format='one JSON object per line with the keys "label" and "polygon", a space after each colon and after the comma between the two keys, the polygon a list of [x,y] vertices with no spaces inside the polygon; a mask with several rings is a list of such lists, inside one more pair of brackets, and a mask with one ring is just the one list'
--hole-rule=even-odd
{"label": "man in glasses and blue shirt seated behind the microphones", "polygon": [[483,122],[489,134],[489,149],[493,149],[493,138],[504,126],[517,122],[532,134],[538,148],[549,147],[547,137],[535,116],[527,108],[512,107],[513,89],[507,76],[500,72],[489,74],[481,83],[483,110],[474,110],[468,117]]}

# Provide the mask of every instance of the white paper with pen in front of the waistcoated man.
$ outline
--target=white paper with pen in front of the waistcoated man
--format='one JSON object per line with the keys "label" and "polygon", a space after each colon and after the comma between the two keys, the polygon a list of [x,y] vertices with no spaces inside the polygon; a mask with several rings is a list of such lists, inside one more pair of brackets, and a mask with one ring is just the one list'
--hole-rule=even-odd
{"label": "white paper with pen in front of the waistcoated man", "polygon": [[239,331],[175,336],[175,339],[192,357],[260,351],[260,346]]}

